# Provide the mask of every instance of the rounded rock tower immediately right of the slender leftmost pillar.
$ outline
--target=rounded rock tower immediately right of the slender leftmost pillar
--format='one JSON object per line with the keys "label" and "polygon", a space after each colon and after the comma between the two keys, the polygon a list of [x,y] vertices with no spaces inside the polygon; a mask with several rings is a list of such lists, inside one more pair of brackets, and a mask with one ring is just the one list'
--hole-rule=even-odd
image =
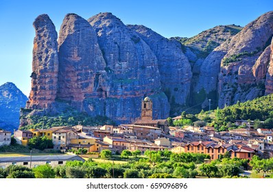
{"label": "rounded rock tower immediately right of the slender leftmost pillar", "polygon": [[[105,97],[106,64],[93,27],[77,14],[67,14],[58,38],[58,99],[82,110],[84,99]],[[104,77],[105,79],[105,77]]]}

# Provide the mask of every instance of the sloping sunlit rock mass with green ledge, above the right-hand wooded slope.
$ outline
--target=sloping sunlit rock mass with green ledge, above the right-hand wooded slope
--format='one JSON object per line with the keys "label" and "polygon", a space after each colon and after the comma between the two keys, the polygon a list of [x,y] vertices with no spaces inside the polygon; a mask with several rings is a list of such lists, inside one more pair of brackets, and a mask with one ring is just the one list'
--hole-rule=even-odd
{"label": "sloping sunlit rock mass with green ledge, above the right-hand wooded slope", "polygon": [[263,88],[254,83],[252,67],[272,39],[272,21],[273,12],[263,14],[230,40],[219,73],[219,107],[263,95]]}

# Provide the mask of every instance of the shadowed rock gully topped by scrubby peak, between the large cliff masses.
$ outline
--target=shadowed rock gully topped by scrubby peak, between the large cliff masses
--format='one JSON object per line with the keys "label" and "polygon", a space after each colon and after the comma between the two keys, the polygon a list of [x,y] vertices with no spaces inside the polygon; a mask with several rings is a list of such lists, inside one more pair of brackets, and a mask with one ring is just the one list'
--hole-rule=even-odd
{"label": "shadowed rock gully topped by scrubby peak, between the large cliff masses", "polygon": [[[191,106],[199,105],[206,108],[209,99],[212,107],[217,107],[217,76],[219,63],[226,50],[213,51],[222,43],[241,31],[243,27],[237,25],[219,25],[207,29],[191,38],[176,38],[183,45],[183,51],[191,63],[193,77],[191,80]],[[211,53],[211,55],[209,55]],[[200,103],[203,103],[200,105]]]}

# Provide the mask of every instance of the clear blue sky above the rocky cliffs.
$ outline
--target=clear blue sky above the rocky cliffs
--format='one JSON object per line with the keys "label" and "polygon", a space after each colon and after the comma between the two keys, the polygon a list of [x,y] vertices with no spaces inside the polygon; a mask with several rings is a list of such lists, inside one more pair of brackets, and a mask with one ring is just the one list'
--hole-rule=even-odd
{"label": "clear blue sky above the rocky cliffs", "polygon": [[145,25],[169,38],[195,36],[216,25],[244,26],[271,10],[272,0],[0,0],[0,85],[13,82],[29,95],[32,23],[39,14],[48,14],[58,32],[67,13],[88,19],[99,12],[112,12],[125,24]]}

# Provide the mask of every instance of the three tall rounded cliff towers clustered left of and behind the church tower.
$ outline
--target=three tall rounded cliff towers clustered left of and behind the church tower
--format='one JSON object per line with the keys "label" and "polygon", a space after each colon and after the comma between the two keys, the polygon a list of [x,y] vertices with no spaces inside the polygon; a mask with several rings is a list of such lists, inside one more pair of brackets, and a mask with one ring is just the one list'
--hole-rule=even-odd
{"label": "three tall rounded cliff towers clustered left of and behind the church tower", "polygon": [[[140,117],[141,100],[147,95],[153,99],[154,118],[167,118],[169,103],[150,47],[110,13],[88,21],[67,14],[58,43],[49,16],[43,14],[34,21],[34,72],[27,101],[27,109],[33,111],[29,114],[58,115],[69,106],[128,123]],[[29,110],[22,111],[22,117]],[[21,125],[27,123],[22,118]]]}

